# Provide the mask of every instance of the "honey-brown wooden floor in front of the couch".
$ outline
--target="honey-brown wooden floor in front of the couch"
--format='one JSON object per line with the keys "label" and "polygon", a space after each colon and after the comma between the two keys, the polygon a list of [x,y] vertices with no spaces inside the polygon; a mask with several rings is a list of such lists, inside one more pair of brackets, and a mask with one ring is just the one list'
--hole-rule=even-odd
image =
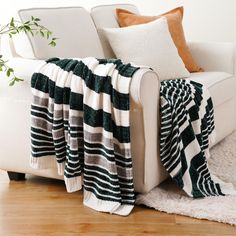
{"label": "honey-brown wooden floor in front of the couch", "polygon": [[27,176],[10,182],[0,170],[0,235],[236,235],[236,227],[135,206],[128,217],[98,213],[67,193],[62,181]]}

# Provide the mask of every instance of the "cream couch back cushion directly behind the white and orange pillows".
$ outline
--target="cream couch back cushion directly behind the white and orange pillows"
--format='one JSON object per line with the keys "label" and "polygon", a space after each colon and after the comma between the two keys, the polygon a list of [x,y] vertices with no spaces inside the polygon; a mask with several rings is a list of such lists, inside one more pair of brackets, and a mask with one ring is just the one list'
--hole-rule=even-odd
{"label": "cream couch back cushion directly behind the white and orange pillows", "polygon": [[115,57],[111,46],[105,37],[102,28],[118,28],[116,8],[126,9],[139,14],[138,8],[132,4],[112,4],[112,5],[101,5],[93,7],[91,9],[91,16],[96,25],[98,35],[101,40],[103,52],[106,58]]}

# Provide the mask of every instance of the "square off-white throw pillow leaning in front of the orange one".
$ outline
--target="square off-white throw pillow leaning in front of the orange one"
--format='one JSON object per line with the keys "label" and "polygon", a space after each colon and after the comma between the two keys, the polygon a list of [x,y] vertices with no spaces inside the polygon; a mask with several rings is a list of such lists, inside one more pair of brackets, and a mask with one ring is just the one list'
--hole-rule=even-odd
{"label": "square off-white throw pillow leaning in front of the orange one", "polygon": [[125,63],[150,66],[161,80],[189,77],[165,17],[147,24],[105,28],[104,32],[116,57]]}

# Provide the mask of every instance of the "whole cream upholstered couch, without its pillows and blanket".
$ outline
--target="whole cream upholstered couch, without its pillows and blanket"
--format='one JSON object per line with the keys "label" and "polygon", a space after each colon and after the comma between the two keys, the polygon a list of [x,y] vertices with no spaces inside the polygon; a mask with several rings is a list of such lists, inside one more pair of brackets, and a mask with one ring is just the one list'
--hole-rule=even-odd
{"label": "whole cream upholstered couch, without its pillows and blanket", "polygon": [[[99,28],[118,27],[116,7],[138,12],[129,4],[98,6],[91,13],[78,7],[20,11],[23,20],[30,15],[39,17],[60,39],[53,49],[39,38],[29,43],[28,38],[21,37],[8,45],[12,54],[9,64],[24,82],[8,87],[7,80],[0,80],[1,169],[62,179],[56,170],[35,170],[29,165],[30,78],[42,63],[37,58],[42,56],[114,56]],[[72,20],[73,27],[65,24]],[[189,43],[189,47],[198,65],[205,69],[205,72],[192,73],[191,79],[210,90],[217,143],[236,129],[236,44],[194,42]],[[131,145],[137,192],[151,190],[168,176],[159,157],[159,83],[157,74],[147,69],[136,73],[131,83]]]}

